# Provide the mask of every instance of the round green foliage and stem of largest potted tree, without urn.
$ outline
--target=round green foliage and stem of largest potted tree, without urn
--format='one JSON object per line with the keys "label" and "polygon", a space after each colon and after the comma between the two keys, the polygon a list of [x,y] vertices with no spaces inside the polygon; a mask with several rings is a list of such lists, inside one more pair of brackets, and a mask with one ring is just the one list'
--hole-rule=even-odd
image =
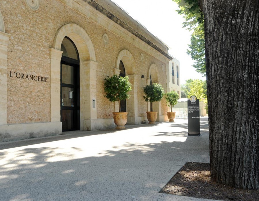
{"label": "round green foliage and stem of largest potted tree, without urn", "polygon": [[108,98],[111,102],[119,101],[119,111],[121,111],[120,100],[125,100],[130,96],[127,94],[131,90],[129,77],[113,75],[111,77],[107,76],[104,80],[104,97]]}

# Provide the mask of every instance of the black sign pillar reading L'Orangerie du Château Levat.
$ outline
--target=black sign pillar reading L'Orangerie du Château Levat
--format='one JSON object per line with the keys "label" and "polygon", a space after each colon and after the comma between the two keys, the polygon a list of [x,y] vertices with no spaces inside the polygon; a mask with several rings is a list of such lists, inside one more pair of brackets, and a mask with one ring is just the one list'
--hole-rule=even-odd
{"label": "black sign pillar reading L'Orangerie du Ch\u00e2teau Levat", "polygon": [[188,107],[188,135],[201,136],[200,134],[200,102],[196,96],[187,100]]}

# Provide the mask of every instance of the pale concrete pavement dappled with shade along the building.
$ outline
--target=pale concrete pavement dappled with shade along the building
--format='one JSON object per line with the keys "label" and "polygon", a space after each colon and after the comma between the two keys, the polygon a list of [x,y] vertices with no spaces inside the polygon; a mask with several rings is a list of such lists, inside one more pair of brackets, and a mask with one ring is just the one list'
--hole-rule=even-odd
{"label": "pale concrete pavement dappled with shade along the building", "polygon": [[187,119],[0,143],[0,200],[206,200],[159,191],[188,161],[209,163]]}

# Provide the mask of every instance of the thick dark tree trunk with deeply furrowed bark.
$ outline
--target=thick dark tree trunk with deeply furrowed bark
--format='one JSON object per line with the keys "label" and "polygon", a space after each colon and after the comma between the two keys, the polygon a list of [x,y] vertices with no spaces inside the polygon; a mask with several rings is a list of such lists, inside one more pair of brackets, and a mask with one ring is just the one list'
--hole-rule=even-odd
{"label": "thick dark tree trunk with deeply furrowed bark", "polygon": [[203,0],[212,179],[259,189],[259,3]]}

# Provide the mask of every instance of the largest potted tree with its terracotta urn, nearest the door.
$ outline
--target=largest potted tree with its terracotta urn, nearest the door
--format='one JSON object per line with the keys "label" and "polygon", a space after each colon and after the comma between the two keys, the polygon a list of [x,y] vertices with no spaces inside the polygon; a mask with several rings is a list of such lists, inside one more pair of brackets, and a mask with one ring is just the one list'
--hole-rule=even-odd
{"label": "largest potted tree with its terracotta urn, nearest the door", "polygon": [[121,112],[120,101],[129,98],[129,94],[127,94],[131,90],[129,77],[113,75],[107,76],[104,80],[104,97],[111,102],[119,102],[119,112],[113,112],[113,120],[117,125],[116,129],[125,129],[124,125],[127,123],[128,112]]}

